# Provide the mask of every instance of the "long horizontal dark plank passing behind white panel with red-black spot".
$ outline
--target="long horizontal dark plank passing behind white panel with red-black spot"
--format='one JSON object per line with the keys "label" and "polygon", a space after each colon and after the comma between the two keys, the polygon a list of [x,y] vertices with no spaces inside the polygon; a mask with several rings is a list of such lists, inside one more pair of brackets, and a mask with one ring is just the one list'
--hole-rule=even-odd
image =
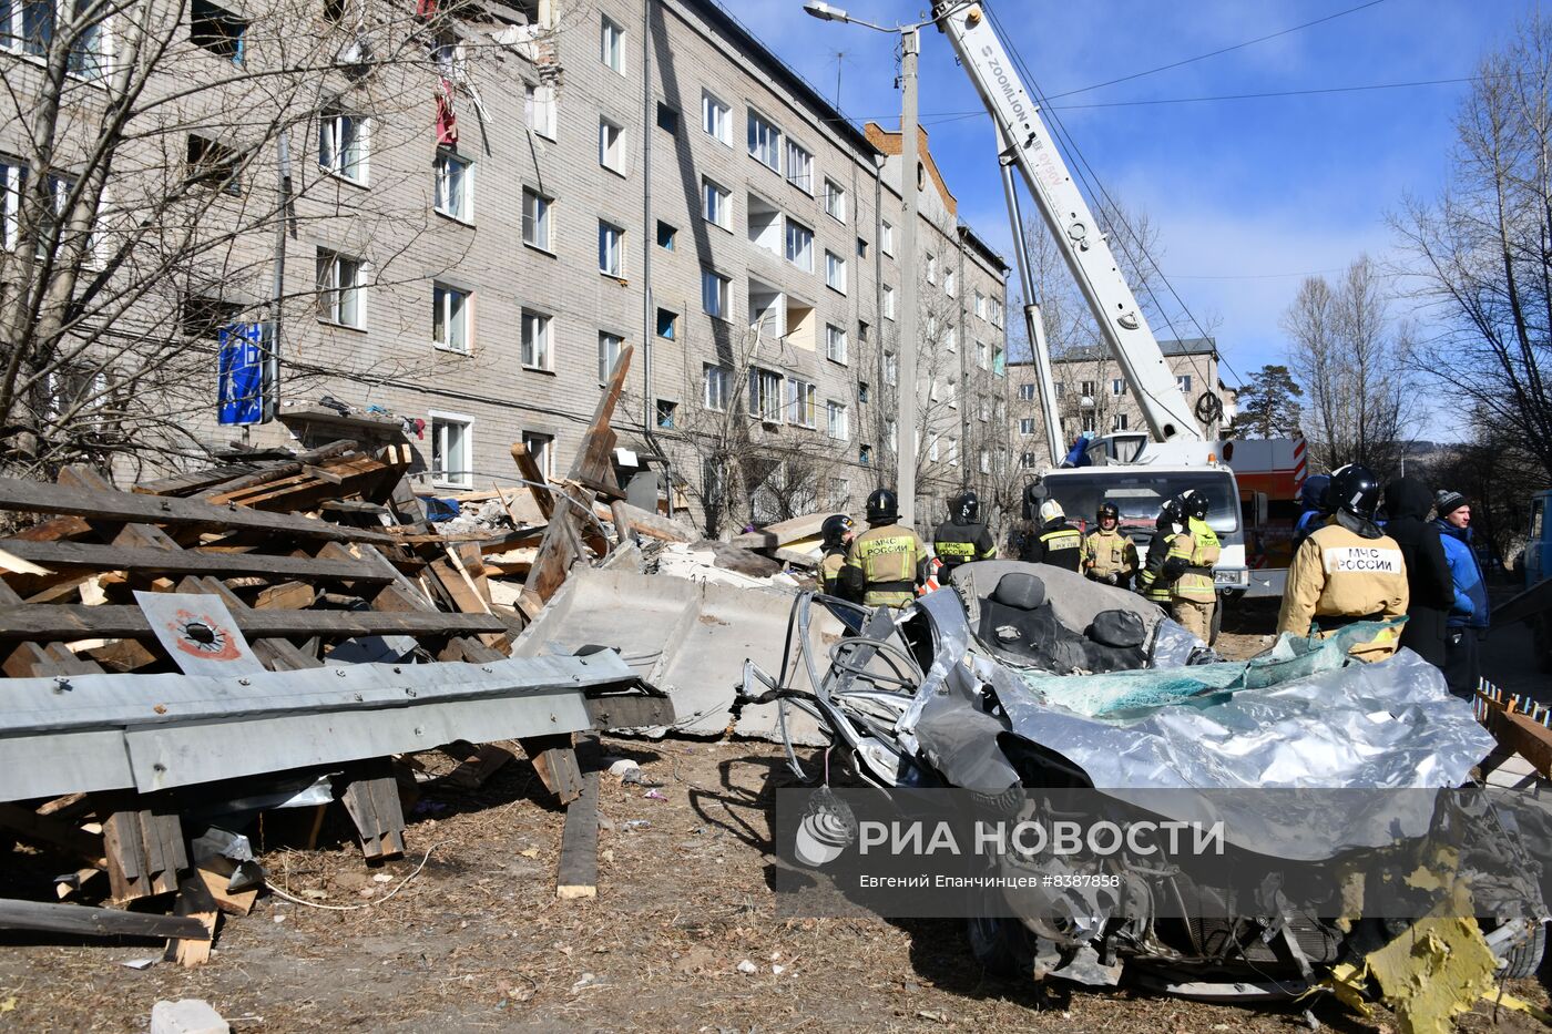
{"label": "long horizontal dark plank passing behind white panel with red-black spot", "polygon": [[[152,497],[147,497],[152,498]],[[247,610],[233,615],[250,638],[293,635],[504,635],[508,624],[489,613],[385,613],[377,610]],[[151,637],[140,607],[20,605],[0,607],[0,641],[73,641]],[[78,672],[79,674],[79,672]]]}

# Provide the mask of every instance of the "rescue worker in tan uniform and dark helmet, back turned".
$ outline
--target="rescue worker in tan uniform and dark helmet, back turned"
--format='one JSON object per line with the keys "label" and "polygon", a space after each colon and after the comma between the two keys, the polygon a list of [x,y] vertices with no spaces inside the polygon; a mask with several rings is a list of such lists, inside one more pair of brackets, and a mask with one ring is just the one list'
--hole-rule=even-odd
{"label": "rescue worker in tan uniform and dark helmet, back turned", "polygon": [[[1332,522],[1310,533],[1288,567],[1279,633],[1324,638],[1353,621],[1389,621],[1406,613],[1401,546],[1374,523],[1380,481],[1367,467],[1349,463],[1332,472],[1327,503],[1335,511]],[[1398,632],[1386,630],[1347,652],[1358,660],[1384,660],[1398,641]]]}

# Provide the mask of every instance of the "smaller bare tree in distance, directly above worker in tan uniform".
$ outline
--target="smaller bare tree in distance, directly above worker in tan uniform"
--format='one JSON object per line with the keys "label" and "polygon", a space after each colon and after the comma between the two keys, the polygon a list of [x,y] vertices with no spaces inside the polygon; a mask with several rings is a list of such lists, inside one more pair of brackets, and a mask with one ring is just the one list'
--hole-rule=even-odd
{"label": "smaller bare tree in distance, directly above worker in tan uniform", "polygon": [[1335,287],[1307,278],[1282,329],[1310,401],[1311,461],[1394,472],[1414,425],[1412,329],[1391,317],[1374,262],[1360,256]]}

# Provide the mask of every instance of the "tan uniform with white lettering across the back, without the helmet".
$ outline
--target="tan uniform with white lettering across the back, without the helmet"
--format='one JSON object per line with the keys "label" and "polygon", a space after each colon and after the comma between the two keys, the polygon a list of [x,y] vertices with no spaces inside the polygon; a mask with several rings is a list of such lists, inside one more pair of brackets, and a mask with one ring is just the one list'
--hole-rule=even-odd
{"label": "tan uniform with white lettering across the back, without the helmet", "polygon": [[[1325,638],[1353,621],[1387,621],[1409,604],[1401,546],[1391,536],[1366,537],[1330,523],[1299,545],[1288,567],[1288,587],[1277,613],[1277,632],[1310,635],[1311,623]],[[1398,633],[1383,632],[1347,652],[1358,660],[1384,660]]]}

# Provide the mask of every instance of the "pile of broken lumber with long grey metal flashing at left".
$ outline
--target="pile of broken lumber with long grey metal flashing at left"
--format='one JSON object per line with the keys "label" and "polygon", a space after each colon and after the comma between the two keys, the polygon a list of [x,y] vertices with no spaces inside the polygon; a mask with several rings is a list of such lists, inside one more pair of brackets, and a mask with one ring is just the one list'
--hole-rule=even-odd
{"label": "pile of broken lumber with long grey metal flashing at left", "polygon": [[[615,483],[622,379],[573,477],[526,478],[542,526],[438,534],[405,477],[408,444],[340,441],[132,491],[85,469],[53,484],[0,478],[12,529],[0,537],[0,862],[26,845],[65,873],[0,899],[0,928],[172,938],[169,956],[196,964],[217,911],[245,911],[258,888],[233,890],[236,863],[191,840],[185,815],[310,787],[309,801],[345,806],[376,862],[410,849],[413,755],[441,750],[461,762],[447,781],[478,786],[512,758],[494,739],[517,741],[573,812],[557,885],[580,893],[596,773],[577,737],[667,723],[672,706],[613,652],[509,652],[573,564],[607,560],[633,534],[683,534],[632,512]],[[511,559],[518,550],[532,560]],[[495,601],[492,576],[525,579],[515,607]],[[309,806],[321,821],[326,804]],[[174,914],[123,910],[155,897]]]}

